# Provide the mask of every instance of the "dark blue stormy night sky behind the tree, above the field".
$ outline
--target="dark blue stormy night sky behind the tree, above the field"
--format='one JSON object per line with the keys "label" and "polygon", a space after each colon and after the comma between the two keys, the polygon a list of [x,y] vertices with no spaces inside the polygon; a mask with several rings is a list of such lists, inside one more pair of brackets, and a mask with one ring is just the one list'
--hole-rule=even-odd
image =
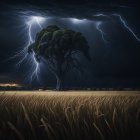
{"label": "dark blue stormy night sky behind the tree, above the field", "polygon": [[[133,33],[113,14],[121,15]],[[30,62],[25,60],[20,66],[17,65],[23,56],[15,55],[27,45],[26,23],[32,16],[46,18],[43,27],[55,24],[79,31],[89,43],[91,62],[80,58],[85,73],[78,75],[71,71],[65,77],[65,86],[140,88],[140,5],[135,0],[1,1],[0,83],[32,86],[56,84],[47,66],[40,68],[39,80],[31,80]],[[98,23],[101,23],[103,36],[97,30]],[[33,38],[39,30],[37,25],[32,27]]]}

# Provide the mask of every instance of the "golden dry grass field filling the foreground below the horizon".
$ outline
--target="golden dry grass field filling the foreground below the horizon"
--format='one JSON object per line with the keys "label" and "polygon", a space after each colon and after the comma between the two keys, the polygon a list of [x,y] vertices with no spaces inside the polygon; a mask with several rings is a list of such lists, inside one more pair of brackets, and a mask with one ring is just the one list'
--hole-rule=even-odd
{"label": "golden dry grass field filling the foreground below the horizon", "polygon": [[139,91],[0,92],[0,140],[139,140]]}

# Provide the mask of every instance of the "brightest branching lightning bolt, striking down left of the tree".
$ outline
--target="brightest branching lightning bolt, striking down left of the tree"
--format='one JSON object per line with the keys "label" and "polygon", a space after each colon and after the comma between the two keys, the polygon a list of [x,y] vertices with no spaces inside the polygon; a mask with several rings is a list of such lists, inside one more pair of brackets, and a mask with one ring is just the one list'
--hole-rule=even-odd
{"label": "brightest branching lightning bolt, striking down left of the tree", "polygon": [[28,21],[26,21],[26,27],[28,30],[28,43],[25,45],[25,47],[16,53],[14,57],[21,57],[21,59],[18,61],[17,66],[20,66],[23,62],[27,62],[31,65],[30,70],[30,82],[32,82],[35,78],[39,81],[39,73],[40,73],[40,63],[36,60],[35,53],[29,55],[28,54],[28,47],[34,42],[34,39],[32,38],[32,27],[33,25],[37,24],[40,29],[42,29],[41,23],[43,23],[46,19],[43,17],[38,16],[31,16],[29,17]]}

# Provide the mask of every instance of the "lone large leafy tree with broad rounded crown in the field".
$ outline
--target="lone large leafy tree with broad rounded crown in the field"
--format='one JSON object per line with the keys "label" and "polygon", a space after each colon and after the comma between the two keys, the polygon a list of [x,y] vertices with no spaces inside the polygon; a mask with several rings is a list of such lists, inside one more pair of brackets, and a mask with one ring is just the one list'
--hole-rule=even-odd
{"label": "lone large leafy tree with broad rounded crown in the field", "polygon": [[64,76],[73,68],[80,70],[80,62],[76,55],[82,53],[90,60],[89,46],[80,32],[56,25],[48,26],[37,33],[35,42],[28,47],[34,52],[36,60],[44,59],[49,70],[57,79],[56,89],[61,89]]}

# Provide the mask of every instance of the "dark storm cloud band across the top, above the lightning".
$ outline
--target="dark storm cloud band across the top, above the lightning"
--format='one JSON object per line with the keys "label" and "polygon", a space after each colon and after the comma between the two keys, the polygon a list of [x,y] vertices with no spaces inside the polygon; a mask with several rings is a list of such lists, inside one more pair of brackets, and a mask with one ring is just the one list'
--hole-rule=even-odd
{"label": "dark storm cloud band across the top, above the lightning", "polygon": [[[73,4],[69,4],[72,2]],[[22,4],[23,3],[23,4]],[[41,3],[45,3],[40,5]],[[40,5],[40,6],[39,6]],[[123,6],[124,5],[124,6]],[[137,2],[124,2],[124,1],[92,1],[92,0],[77,0],[77,1],[64,1],[64,0],[40,0],[40,1],[4,1],[0,6],[1,15],[9,15],[11,18],[17,16],[17,13],[25,15],[36,15],[41,14],[44,16],[58,16],[58,17],[77,17],[77,18],[86,18],[93,20],[109,20],[107,17],[95,17],[93,15],[97,13],[110,14],[113,12],[125,12],[131,9],[137,10]],[[11,12],[9,12],[11,11]]]}

